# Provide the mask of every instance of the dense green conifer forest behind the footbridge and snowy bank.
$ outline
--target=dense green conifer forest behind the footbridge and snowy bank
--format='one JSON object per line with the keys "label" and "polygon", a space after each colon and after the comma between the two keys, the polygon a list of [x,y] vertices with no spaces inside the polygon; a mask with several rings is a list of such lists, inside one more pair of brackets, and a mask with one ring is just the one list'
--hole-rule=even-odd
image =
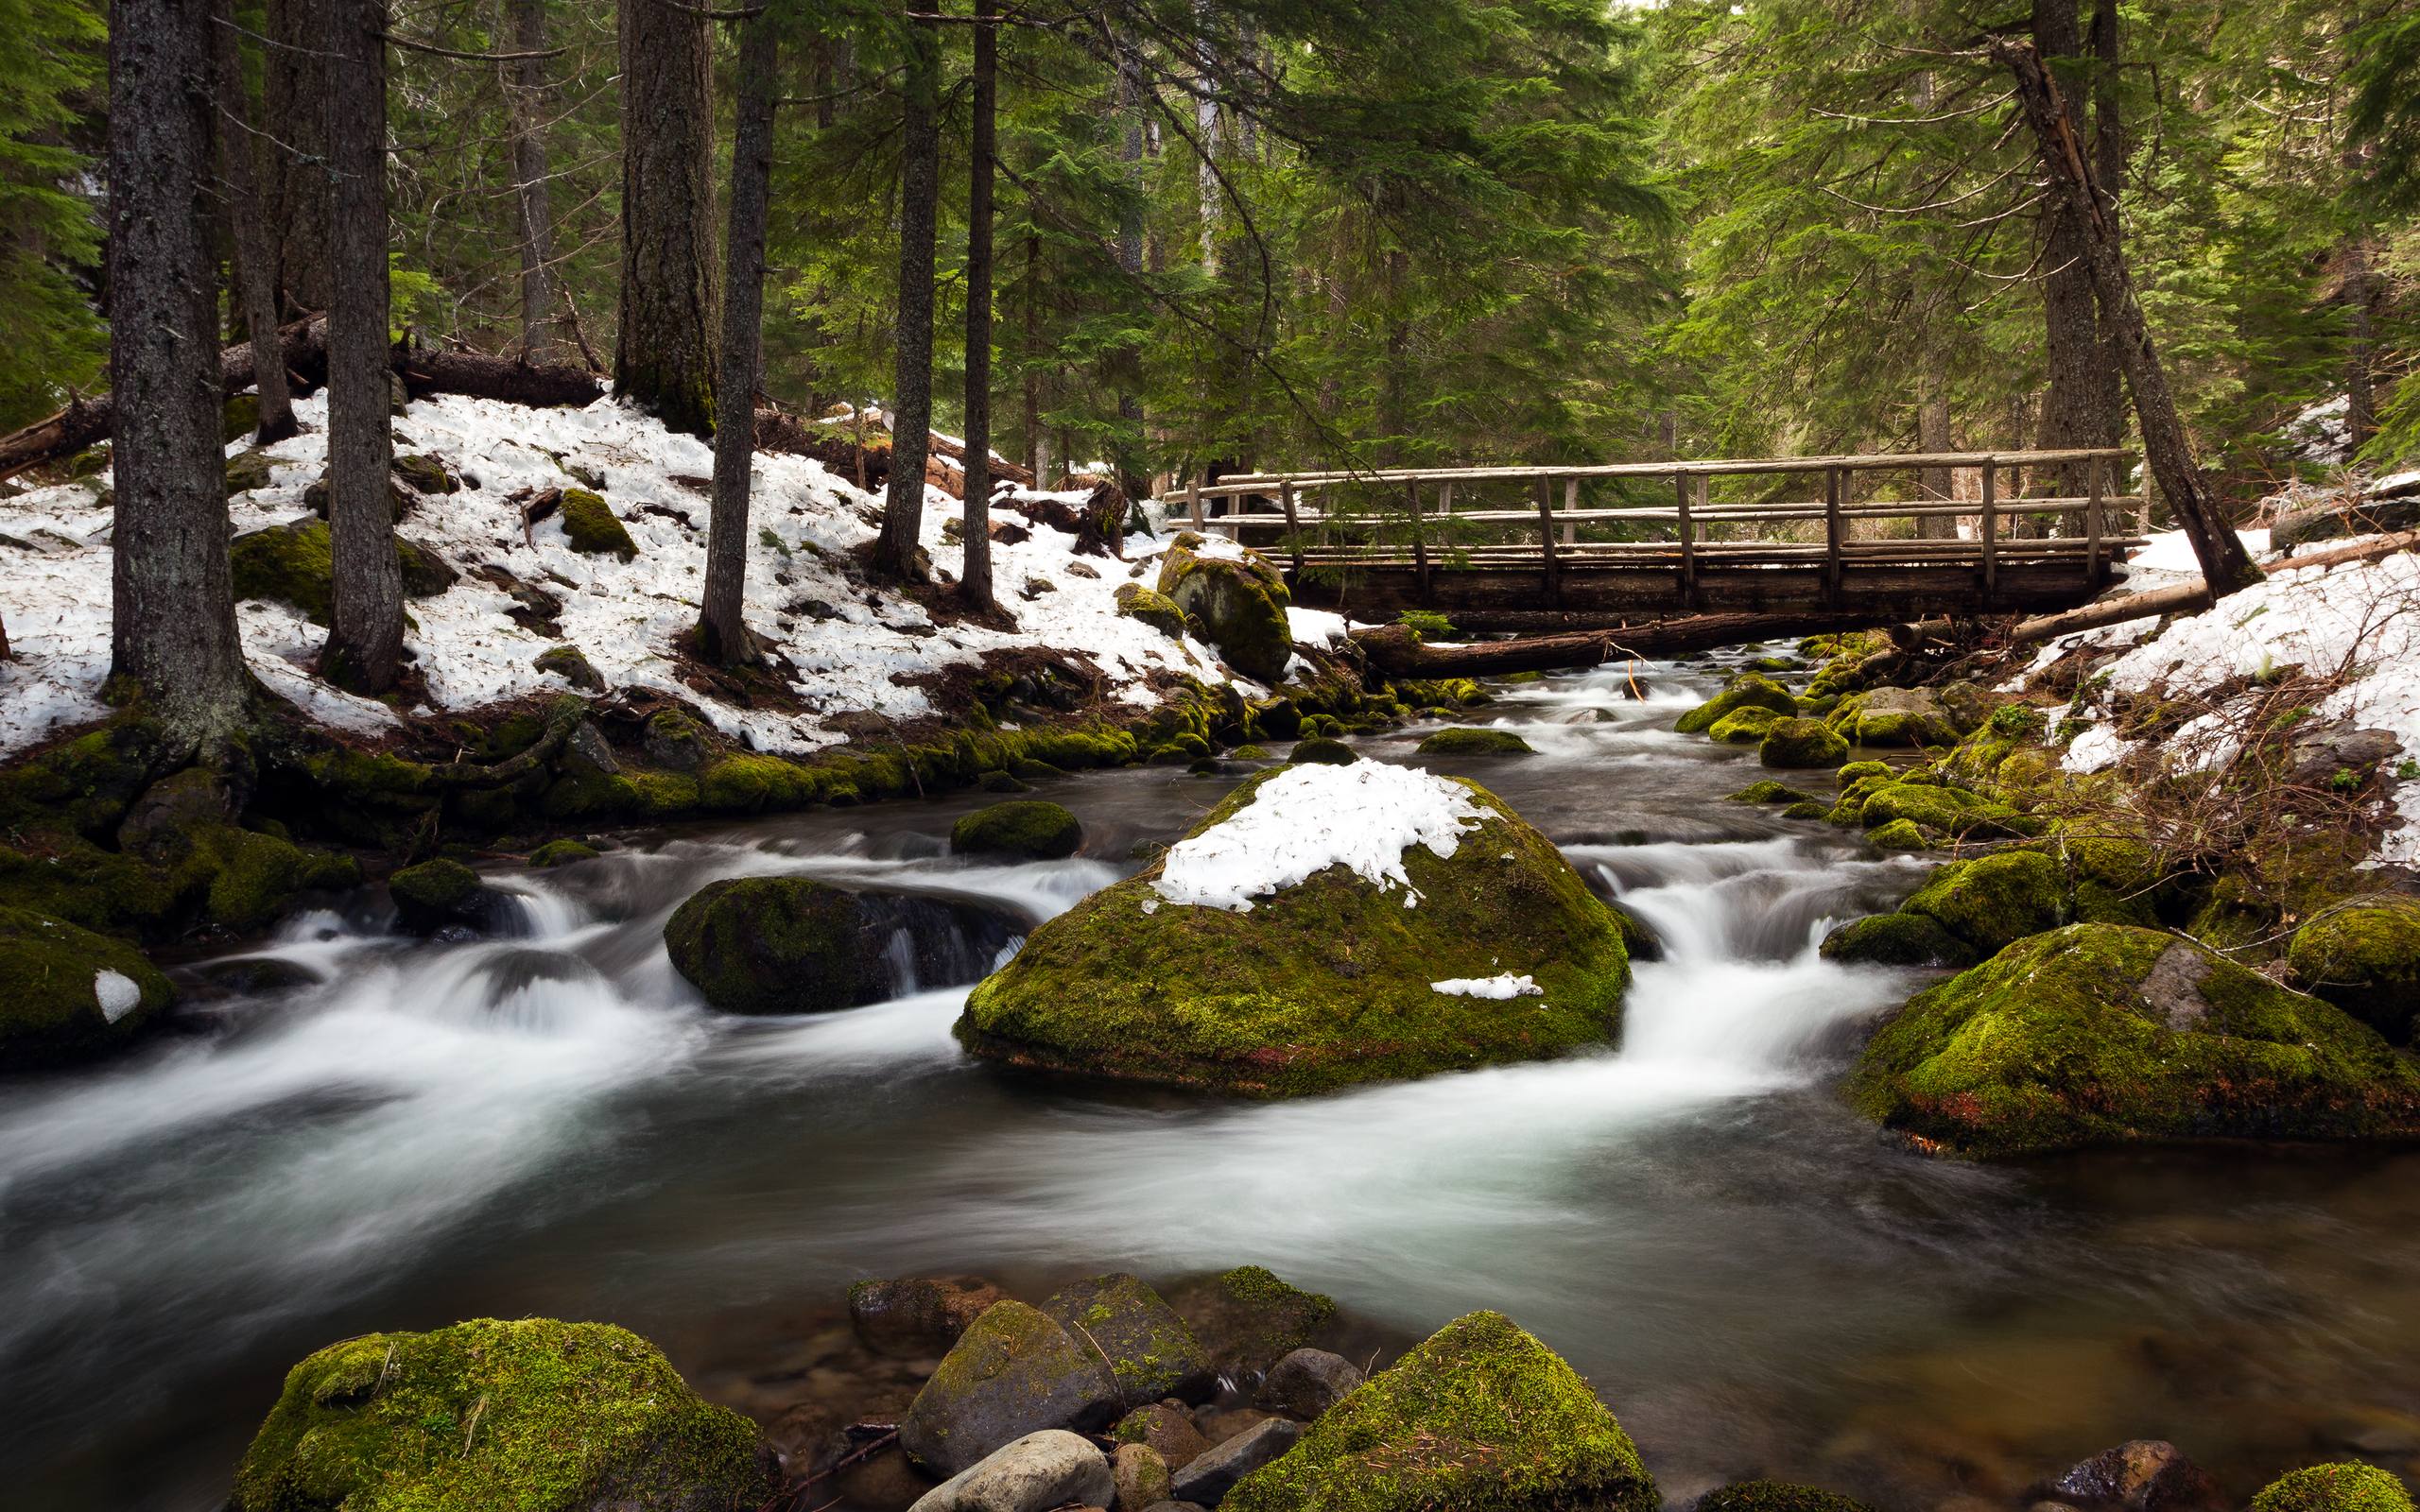
{"label": "dense green conifer forest behind the footbridge and snowy bank", "polygon": [[[252,152],[288,312],[324,310],[327,264],[324,109],[310,51],[278,41],[300,10],[220,19],[242,77],[220,160]],[[782,104],[760,389],[806,414],[891,399],[900,157],[932,109],[932,387],[956,426],[973,46],[995,31],[992,438],[1041,472],[2118,440],[2091,285],[1984,53],[2030,36],[2088,123],[2229,491],[2420,448],[2420,17],[2391,0],[765,15]],[[10,428],[104,382],[106,5],[0,0],[0,24]],[[741,27],[709,31],[719,215]],[[399,0],[390,36],[392,322],[610,363],[615,7]],[[244,201],[218,203],[232,341]]]}

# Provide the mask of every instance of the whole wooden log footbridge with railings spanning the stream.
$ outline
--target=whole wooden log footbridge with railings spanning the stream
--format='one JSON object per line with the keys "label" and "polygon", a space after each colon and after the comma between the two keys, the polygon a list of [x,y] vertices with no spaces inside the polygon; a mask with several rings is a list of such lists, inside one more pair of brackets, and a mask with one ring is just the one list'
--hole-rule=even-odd
{"label": "whole wooden log footbridge with railings spanning the stream", "polygon": [[[1258,547],[1295,602],[1580,617],[2016,614],[2081,605],[2139,547],[2127,452],[1924,452],[1258,472],[1164,494],[1169,515]],[[1980,472],[1977,498],[1926,498],[1924,472]],[[1885,496],[1905,474],[1905,498]],[[2084,494],[2026,498],[2028,479]],[[1725,484],[1725,486],[1718,486]],[[1800,498],[1798,494],[1808,494]],[[1638,503],[1641,498],[1670,503]],[[1924,523],[1955,532],[1926,532]]]}

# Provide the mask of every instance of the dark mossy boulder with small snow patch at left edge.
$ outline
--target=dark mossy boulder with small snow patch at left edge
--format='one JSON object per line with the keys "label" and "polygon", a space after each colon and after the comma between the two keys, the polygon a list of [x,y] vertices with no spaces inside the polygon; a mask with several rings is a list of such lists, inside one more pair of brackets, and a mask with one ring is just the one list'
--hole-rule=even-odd
{"label": "dark mossy boulder with small snow patch at left edge", "polygon": [[109,1055],[172,997],[160,968],[126,941],[0,907],[0,1072]]}

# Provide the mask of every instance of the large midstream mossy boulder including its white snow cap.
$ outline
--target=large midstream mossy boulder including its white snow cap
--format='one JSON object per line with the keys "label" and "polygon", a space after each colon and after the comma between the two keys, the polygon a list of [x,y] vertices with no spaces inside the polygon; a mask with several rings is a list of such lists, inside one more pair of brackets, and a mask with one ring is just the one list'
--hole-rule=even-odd
{"label": "large midstream mossy boulder including its white snow cap", "polygon": [[1287,767],[968,997],[987,1060],[1292,1096],[1604,1045],[1621,927],[1479,784]]}

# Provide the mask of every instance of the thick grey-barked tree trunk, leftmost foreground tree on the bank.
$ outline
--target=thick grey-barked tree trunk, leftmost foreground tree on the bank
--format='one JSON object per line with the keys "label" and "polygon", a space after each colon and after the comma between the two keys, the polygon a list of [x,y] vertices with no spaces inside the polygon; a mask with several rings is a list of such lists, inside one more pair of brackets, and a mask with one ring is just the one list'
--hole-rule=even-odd
{"label": "thick grey-barked tree trunk, leftmost foreground tree on the bank", "polygon": [[186,750],[244,723],[211,278],[211,2],[109,17],[111,670]]}

